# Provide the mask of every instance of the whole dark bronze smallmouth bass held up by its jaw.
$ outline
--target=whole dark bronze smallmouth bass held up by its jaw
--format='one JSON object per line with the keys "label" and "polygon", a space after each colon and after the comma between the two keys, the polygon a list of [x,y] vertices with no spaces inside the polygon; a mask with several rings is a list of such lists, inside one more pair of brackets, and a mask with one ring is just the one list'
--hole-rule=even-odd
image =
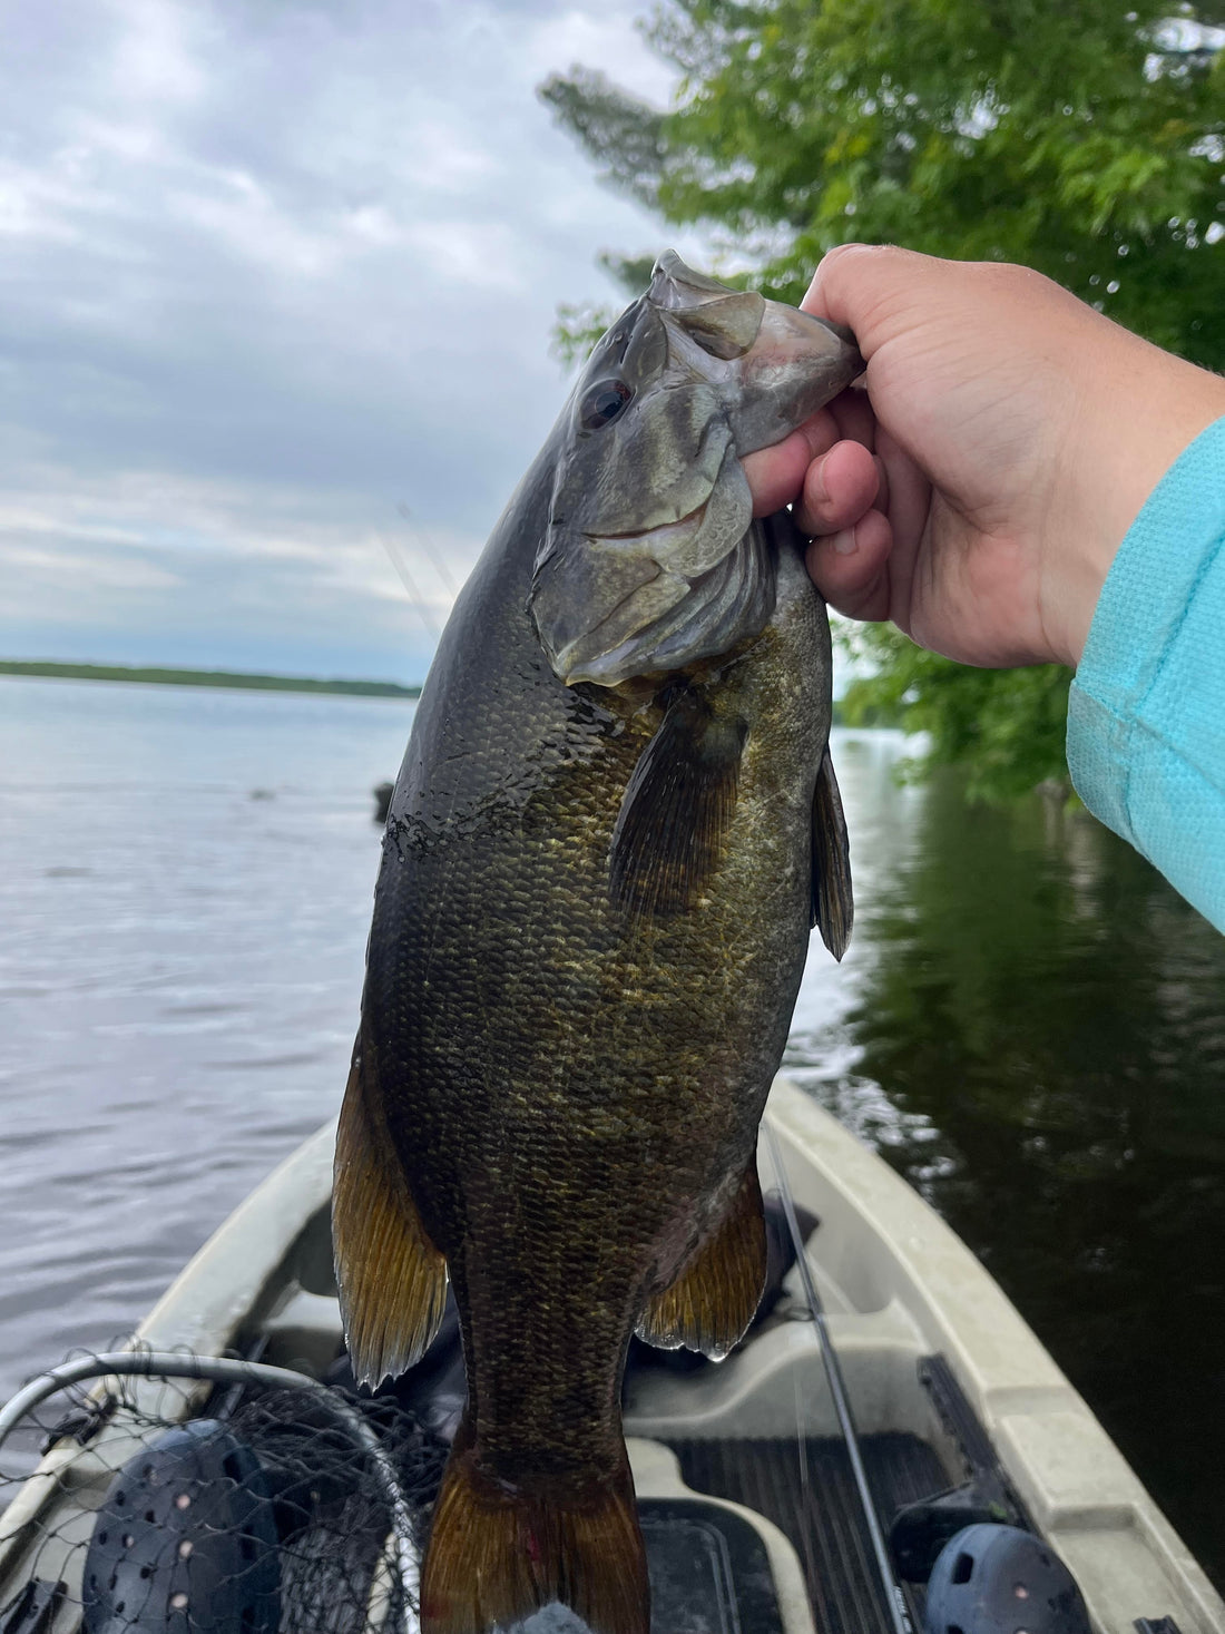
{"label": "whole dark bronze smallmouth bass held up by its jaw", "polygon": [[550,1601],[647,1634],[634,1333],[725,1356],[763,1291],[758,1124],[810,930],[853,899],[830,631],[740,459],[864,368],[673,252],[596,345],[462,588],[392,796],[336,1141],[348,1353],[454,1291],[467,1405],[423,1634]]}

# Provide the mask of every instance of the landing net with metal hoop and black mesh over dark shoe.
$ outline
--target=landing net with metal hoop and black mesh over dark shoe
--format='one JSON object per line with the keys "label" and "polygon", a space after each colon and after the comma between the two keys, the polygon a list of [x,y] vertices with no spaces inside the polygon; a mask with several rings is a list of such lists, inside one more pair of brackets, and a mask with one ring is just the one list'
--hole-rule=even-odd
{"label": "landing net with metal hoop and black mesh over dark shoe", "polygon": [[413,1627],[446,1451],[394,1399],[351,1391],[74,1386],[0,1448],[0,1634]]}

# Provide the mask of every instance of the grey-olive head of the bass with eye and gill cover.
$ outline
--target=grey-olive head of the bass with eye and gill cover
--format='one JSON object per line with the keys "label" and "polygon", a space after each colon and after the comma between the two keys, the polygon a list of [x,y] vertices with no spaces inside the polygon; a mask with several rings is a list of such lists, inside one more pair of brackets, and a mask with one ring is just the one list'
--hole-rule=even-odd
{"label": "grey-olive head of the bass with eye and gill cover", "polygon": [[862,368],[846,330],[660,257],[555,433],[529,609],[560,680],[616,686],[764,627],[774,575],[740,458]]}

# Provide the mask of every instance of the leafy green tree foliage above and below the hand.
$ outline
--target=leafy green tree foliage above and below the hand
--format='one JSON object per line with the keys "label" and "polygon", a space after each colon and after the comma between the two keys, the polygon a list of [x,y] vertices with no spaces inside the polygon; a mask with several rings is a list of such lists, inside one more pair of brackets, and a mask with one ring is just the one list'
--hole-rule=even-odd
{"label": "leafy green tree foliage above and below the hand", "polygon": [[[1225,3],[666,0],[660,111],[588,69],[541,88],[601,175],[799,301],[835,243],[1022,261],[1225,369]],[[642,257],[604,255],[640,288]],[[599,315],[568,309],[573,353]],[[1063,776],[1068,672],[975,672],[889,629],[854,708],[893,704],[978,794]]]}

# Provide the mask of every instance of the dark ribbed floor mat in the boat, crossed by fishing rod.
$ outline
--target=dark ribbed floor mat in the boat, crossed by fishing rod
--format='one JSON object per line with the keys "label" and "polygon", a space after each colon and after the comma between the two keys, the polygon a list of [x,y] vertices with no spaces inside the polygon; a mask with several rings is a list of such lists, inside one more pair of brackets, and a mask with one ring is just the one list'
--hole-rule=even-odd
{"label": "dark ribbed floor mat in the boat, crossed by fishing rod", "polygon": [[[684,1484],[768,1516],[804,1567],[817,1634],[892,1634],[846,1446],[800,1441],[670,1441]],[[859,1448],[880,1523],[903,1503],[951,1485],[936,1453],[913,1435],[867,1435]],[[918,1609],[918,1608],[916,1608]],[[756,1634],[745,1627],[743,1634]]]}

